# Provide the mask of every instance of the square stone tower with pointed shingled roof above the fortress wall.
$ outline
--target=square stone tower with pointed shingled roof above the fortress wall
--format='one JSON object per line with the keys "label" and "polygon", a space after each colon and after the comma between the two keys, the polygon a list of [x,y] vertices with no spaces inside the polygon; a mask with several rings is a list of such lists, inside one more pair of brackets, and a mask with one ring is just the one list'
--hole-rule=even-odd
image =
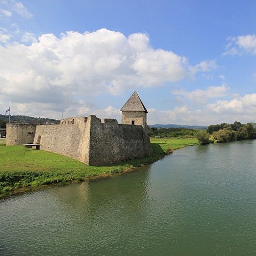
{"label": "square stone tower with pointed shingled roof above the fortress wall", "polygon": [[120,109],[122,124],[142,125],[146,129],[146,114],[148,113],[137,92]]}

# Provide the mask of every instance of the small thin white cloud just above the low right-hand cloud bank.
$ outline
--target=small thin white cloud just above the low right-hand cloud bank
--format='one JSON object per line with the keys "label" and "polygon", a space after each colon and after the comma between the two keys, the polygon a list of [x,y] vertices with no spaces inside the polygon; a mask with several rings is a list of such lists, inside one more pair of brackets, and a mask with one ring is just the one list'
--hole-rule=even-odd
{"label": "small thin white cloud just above the low right-hand cloud bank", "polygon": [[211,86],[206,88],[205,90],[197,89],[191,92],[187,92],[184,90],[175,90],[172,91],[172,94],[181,95],[185,99],[189,99],[197,103],[206,103],[207,100],[210,98],[219,98],[226,96],[227,90],[227,85],[225,83],[222,83],[221,86]]}

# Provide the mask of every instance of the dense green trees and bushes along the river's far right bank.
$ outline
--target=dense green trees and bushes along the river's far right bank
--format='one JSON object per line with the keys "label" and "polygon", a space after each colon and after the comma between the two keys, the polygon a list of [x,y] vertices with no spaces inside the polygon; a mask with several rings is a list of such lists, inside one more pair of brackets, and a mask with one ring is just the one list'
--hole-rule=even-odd
{"label": "dense green trees and bushes along the river's far right bank", "polygon": [[211,124],[207,130],[200,131],[197,138],[201,144],[256,139],[256,127],[254,123],[242,124],[237,121],[232,124]]}

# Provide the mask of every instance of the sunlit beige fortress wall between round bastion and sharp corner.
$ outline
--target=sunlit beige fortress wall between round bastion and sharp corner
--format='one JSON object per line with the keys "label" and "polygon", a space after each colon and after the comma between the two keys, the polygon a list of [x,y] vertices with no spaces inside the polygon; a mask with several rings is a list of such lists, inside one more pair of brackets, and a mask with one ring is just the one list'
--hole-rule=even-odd
{"label": "sunlit beige fortress wall between round bastion and sharp corner", "polygon": [[40,150],[65,155],[87,163],[89,137],[86,136],[86,126],[86,117],[70,117],[54,125],[37,125],[34,143],[40,144]]}

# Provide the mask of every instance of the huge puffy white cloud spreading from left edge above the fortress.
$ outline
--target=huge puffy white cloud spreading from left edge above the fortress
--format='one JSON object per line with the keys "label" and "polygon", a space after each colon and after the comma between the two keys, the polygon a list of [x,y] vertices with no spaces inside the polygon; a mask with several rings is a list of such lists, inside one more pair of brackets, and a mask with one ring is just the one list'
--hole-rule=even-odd
{"label": "huge puffy white cloud spreading from left edge above the fortress", "polygon": [[125,37],[107,29],[70,31],[59,38],[43,34],[37,41],[26,32],[23,40],[34,42],[0,46],[0,94],[6,102],[25,104],[26,110],[33,105],[37,112],[45,103],[49,113],[69,108],[81,113],[77,96],[159,87],[185,78],[190,69],[185,57],[154,50],[141,33]]}

